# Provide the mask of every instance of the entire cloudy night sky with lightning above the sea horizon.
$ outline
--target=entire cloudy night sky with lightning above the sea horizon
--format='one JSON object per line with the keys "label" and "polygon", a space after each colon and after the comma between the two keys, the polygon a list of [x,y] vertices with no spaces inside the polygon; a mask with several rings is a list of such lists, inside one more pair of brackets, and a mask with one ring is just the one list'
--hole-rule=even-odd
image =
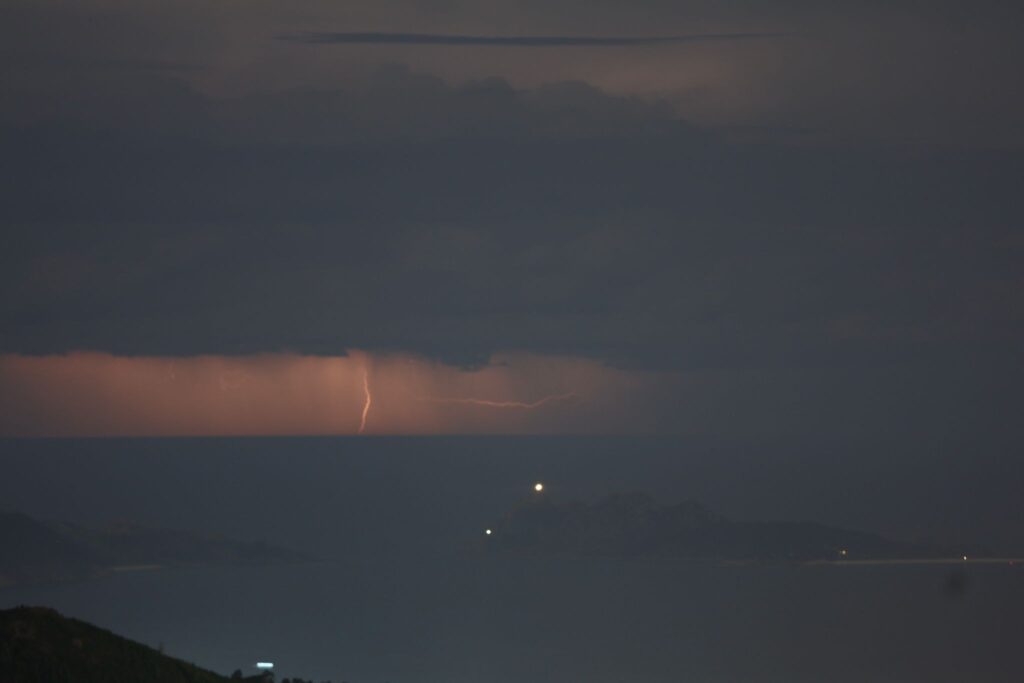
{"label": "entire cloudy night sky with lightning above the sea horizon", "polygon": [[1019,443],[1024,9],[0,7],[0,435]]}

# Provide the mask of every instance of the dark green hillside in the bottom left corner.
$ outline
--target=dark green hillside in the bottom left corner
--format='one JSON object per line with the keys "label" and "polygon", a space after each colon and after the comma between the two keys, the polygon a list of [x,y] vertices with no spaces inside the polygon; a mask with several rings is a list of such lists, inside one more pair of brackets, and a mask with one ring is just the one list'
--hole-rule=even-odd
{"label": "dark green hillside in the bottom left corner", "polygon": [[3,683],[227,683],[229,680],[91,624],[61,616],[52,609],[0,610]]}

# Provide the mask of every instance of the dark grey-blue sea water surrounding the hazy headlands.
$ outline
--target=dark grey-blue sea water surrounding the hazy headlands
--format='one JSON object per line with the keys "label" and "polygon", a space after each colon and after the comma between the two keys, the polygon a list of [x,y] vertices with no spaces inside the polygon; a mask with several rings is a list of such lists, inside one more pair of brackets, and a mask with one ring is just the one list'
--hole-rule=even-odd
{"label": "dark grey-blue sea water surrounding the hazy headlands", "polygon": [[1024,568],[531,557],[482,529],[535,480],[1012,551],[1016,454],[683,438],[0,441],[4,507],[322,561],[0,591],[222,673],[406,681],[1020,681]]}

